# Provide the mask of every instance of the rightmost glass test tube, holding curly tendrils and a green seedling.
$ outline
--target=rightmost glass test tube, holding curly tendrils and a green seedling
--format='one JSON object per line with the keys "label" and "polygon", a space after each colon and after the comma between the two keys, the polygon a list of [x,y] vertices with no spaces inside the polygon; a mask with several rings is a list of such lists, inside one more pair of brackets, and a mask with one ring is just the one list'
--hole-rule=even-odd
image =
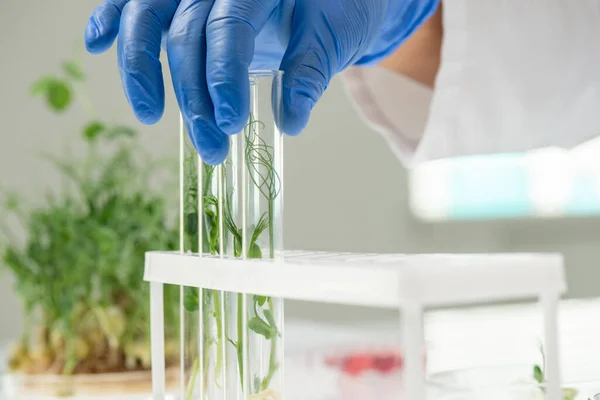
{"label": "rightmost glass test tube, holding curly tendrils and a green seedling", "polygon": [[[239,141],[242,254],[283,257],[283,138],[281,72],[250,75],[250,117]],[[252,266],[249,265],[249,268]],[[246,296],[247,399],[283,396],[283,300]]]}

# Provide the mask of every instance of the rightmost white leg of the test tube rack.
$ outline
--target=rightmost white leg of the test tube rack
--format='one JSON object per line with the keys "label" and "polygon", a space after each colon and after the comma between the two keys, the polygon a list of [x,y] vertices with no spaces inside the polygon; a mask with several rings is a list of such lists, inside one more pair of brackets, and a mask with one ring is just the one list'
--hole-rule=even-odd
{"label": "rightmost white leg of the test tube rack", "polygon": [[540,303],[544,313],[547,400],[562,399],[558,344],[559,301],[559,297],[554,294],[545,294],[540,297]]}

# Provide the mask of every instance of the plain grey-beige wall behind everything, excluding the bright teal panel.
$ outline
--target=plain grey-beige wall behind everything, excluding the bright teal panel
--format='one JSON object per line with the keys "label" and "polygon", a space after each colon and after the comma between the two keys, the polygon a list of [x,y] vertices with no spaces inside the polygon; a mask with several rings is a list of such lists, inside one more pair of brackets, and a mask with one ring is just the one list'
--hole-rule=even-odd
{"label": "plain grey-beige wall behind everything, excluding the bright teal panel", "polygon": [[[30,99],[28,87],[82,44],[87,17],[98,1],[0,0],[1,185],[38,196],[57,182],[35,153],[60,151],[66,135],[85,118],[75,110],[69,118],[54,117],[40,101]],[[99,111],[135,124],[121,91],[114,51],[84,60]],[[170,92],[167,104],[165,118],[143,128],[144,144],[155,154],[176,155],[178,119]],[[570,295],[600,294],[600,220],[423,224],[408,211],[406,180],[385,143],[358,119],[340,82],[334,82],[306,131],[286,141],[286,247],[559,251],[566,255]],[[328,320],[385,315],[302,303],[290,303],[287,312]],[[17,335],[20,325],[20,303],[11,279],[0,272],[0,342]]]}

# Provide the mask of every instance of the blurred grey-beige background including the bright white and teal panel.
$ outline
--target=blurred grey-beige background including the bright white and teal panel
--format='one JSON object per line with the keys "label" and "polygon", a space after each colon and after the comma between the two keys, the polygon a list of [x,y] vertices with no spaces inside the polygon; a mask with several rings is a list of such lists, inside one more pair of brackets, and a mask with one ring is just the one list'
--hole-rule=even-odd
{"label": "blurred grey-beige background including the bright white and teal panel", "polygon": [[[38,153],[60,152],[69,135],[87,121],[81,109],[70,110],[68,118],[57,117],[31,98],[32,82],[57,72],[66,58],[81,60],[100,115],[139,129],[143,146],[153,155],[177,157],[178,110],[170,85],[164,118],[143,127],[121,90],[114,49],[99,57],[84,54],[84,27],[97,3],[0,1],[0,184],[28,199],[42,199],[48,187],[59,184],[57,173]],[[569,297],[600,294],[597,163],[569,169],[572,157],[569,161],[563,153],[550,151],[538,154],[538,161],[531,161],[531,155],[454,160],[409,174],[359,119],[339,80],[318,104],[306,131],[285,143],[286,248],[561,252]],[[588,160],[600,156],[597,145],[589,149]],[[558,192],[552,190],[554,184],[560,184]],[[166,195],[175,202],[177,190]],[[0,342],[5,342],[21,332],[22,306],[11,276],[0,271]],[[294,302],[286,305],[286,313],[328,321],[387,315]]]}

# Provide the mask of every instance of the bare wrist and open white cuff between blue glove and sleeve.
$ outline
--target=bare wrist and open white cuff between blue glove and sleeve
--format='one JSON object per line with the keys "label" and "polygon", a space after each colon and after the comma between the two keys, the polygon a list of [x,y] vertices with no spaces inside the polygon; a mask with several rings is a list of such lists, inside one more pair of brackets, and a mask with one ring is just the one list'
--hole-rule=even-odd
{"label": "bare wrist and open white cuff between blue glove and sleeve", "polygon": [[380,133],[405,165],[416,153],[440,67],[442,5],[394,53],[372,68],[344,75],[350,99],[363,120]]}

